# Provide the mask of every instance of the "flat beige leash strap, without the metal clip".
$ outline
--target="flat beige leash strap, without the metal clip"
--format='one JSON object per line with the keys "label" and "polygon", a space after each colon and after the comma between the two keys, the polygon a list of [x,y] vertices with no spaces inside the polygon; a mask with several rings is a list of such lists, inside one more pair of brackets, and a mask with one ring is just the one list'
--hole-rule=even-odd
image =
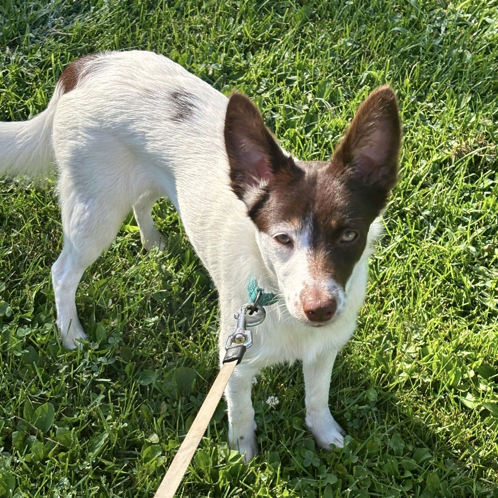
{"label": "flat beige leash strap, without the metal clip", "polygon": [[192,460],[204,432],[206,432],[220,398],[223,396],[223,391],[227,386],[230,376],[234,372],[235,367],[239,364],[239,361],[236,360],[238,359],[234,358],[232,361],[223,364],[223,367],[211,386],[188,434],[185,436],[173,462],[171,462],[168,472],[166,472],[166,475],[159,485],[154,498],[173,498],[175,496],[183,475],[187,471],[188,464],[190,463],[190,460]]}

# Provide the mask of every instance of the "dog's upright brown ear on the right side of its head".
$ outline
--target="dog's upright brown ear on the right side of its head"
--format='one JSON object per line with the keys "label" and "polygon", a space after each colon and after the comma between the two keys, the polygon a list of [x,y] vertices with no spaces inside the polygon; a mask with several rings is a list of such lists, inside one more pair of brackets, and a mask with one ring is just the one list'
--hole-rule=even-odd
{"label": "dog's upright brown ear on the right side of its head", "polygon": [[331,168],[352,168],[353,176],[387,196],[397,179],[401,124],[396,96],[383,86],[358,109],[331,159]]}

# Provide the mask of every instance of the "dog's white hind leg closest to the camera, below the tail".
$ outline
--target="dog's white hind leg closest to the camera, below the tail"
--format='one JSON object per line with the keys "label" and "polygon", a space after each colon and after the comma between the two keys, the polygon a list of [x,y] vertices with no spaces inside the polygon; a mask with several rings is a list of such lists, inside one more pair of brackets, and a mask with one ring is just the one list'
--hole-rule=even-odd
{"label": "dog's white hind leg closest to the camera, below the tail", "polygon": [[78,192],[70,177],[61,177],[59,189],[64,246],[52,266],[52,285],[61,339],[73,349],[86,337],[76,313],[76,288],[85,269],[115,239],[129,204],[109,190]]}

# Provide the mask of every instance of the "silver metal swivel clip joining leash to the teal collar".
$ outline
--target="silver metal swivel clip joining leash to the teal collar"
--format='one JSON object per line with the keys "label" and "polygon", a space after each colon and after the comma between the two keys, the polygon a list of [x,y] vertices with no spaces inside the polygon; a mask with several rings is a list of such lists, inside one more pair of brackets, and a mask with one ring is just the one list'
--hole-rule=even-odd
{"label": "silver metal swivel clip joining leash to the teal collar", "polygon": [[259,296],[256,296],[254,303],[246,303],[239,312],[235,313],[234,318],[237,320],[237,328],[227,339],[225,344],[227,353],[223,363],[237,361],[237,365],[239,365],[247,348],[252,346],[252,332],[249,327],[259,325],[266,317],[264,308],[257,306],[258,300]]}

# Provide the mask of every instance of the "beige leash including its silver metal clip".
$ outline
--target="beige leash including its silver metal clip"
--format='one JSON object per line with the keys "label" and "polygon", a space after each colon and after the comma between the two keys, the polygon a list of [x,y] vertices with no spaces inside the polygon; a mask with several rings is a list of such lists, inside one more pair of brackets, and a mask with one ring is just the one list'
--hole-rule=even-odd
{"label": "beige leash including its silver metal clip", "polygon": [[199,413],[190,426],[180,449],[175,458],[173,458],[154,498],[173,498],[175,496],[183,476],[188,469],[188,464],[192,460],[195,450],[218,406],[218,402],[223,396],[223,391],[230,380],[230,376],[234,373],[235,367],[241,363],[246,349],[252,346],[252,334],[247,327],[259,325],[264,320],[266,314],[264,308],[261,305],[257,305],[259,294],[254,303],[245,304],[241,308],[241,311],[235,314],[237,329],[227,340],[225,346],[227,352],[223,360],[223,367],[211,386]]}

